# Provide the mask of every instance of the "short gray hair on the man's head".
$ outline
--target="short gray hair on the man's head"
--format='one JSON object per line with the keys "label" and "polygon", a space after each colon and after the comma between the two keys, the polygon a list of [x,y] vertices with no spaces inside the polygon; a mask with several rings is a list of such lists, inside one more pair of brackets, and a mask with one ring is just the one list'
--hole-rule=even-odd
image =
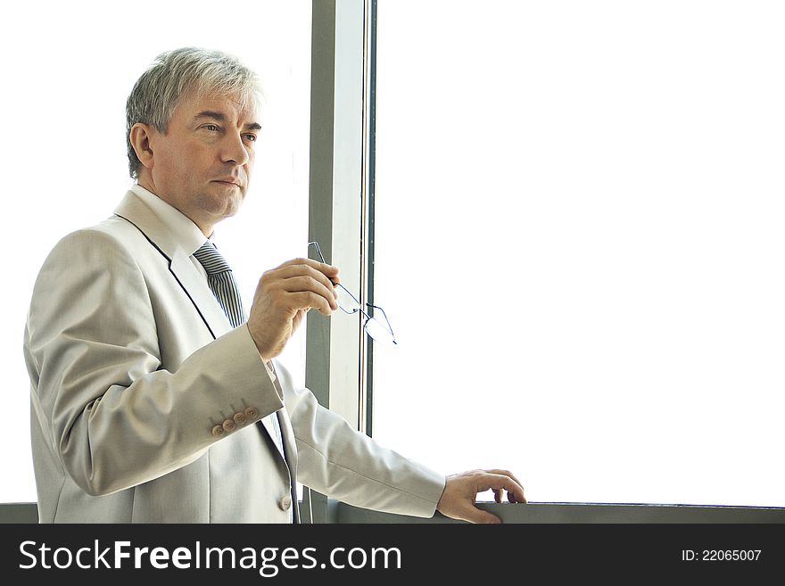
{"label": "short gray hair on the man's head", "polygon": [[126,143],[128,170],[138,177],[141,161],[131,144],[131,128],[151,124],[166,134],[172,113],[191,95],[236,95],[243,107],[260,102],[256,74],[236,57],[196,47],[167,51],[136,80],[126,103]]}

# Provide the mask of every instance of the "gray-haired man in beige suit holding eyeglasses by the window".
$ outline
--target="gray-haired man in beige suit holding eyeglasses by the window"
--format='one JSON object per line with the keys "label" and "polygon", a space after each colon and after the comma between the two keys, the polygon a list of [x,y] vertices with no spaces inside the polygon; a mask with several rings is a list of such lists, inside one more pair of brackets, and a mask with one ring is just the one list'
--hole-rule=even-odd
{"label": "gray-haired man in beige suit holding eyeglasses by the window", "polygon": [[24,344],[40,520],[290,523],[300,481],[359,507],[498,522],[475,496],[525,502],[513,475],[445,478],[353,430],[276,363],[307,311],[337,309],[337,268],[269,270],[247,320],[230,273],[211,285],[213,228],[251,180],[257,92],[226,54],[159,56],[128,97],[136,185],[45,260]]}

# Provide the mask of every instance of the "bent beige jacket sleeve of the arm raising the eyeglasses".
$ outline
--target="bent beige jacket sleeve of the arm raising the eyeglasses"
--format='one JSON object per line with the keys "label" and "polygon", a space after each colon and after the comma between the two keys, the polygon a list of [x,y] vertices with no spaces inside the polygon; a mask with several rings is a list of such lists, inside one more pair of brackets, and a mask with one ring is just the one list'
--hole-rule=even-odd
{"label": "bent beige jacket sleeve of the arm raising the eyeglasses", "polygon": [[249,425],[283,406],[246,326],[170,370],[161,367],[161,326],[145,275],[111,235],[66,236],[45,260],[25,333],[34,417],[88,494],[193,462],[227,437],[215,429],[224,414],[252,407]]}

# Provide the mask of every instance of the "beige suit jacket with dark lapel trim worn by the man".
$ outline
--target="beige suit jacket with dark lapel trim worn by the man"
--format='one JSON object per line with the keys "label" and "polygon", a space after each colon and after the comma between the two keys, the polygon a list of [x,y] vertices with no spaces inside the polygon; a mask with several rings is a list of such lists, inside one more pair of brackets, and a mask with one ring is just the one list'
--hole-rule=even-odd
{"label": "beige suit jacket with dark lapel trim worn by the man", "polygon": [[[443,475],[353,430],[285,368],[273,380],[133,192],[45,260],[24,353],[41,522],[285,523],[293,478],[413,516],[442,494]],[[260,423],[278,409],[287,458]]]}

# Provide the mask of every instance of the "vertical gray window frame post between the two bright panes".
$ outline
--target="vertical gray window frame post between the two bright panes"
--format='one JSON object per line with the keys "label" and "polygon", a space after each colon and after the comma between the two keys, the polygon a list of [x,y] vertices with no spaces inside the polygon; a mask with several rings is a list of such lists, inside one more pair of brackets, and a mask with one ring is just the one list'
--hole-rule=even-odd
{"label": "vertical gray window frame post between the two bright panes", "polygon": [[[373,124],[368,106],[368,0],[313,0],[309,241],[341,268],[341,283],[372,301]],[[319,403],[367,432],[370,343],[356,316],[325,318],[310,312],[306,324],[305,385]],[[326,496],[303,488],[303,518],[334,518]]]}

